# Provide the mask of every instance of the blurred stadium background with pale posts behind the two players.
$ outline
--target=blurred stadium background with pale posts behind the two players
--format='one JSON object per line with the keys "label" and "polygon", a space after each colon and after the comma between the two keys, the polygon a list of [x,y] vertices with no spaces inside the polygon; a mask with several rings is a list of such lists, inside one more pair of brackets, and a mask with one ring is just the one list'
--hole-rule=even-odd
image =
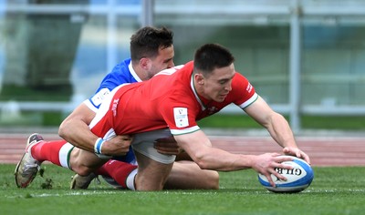
{"label": "blurred stadium background with pale posts behind the two players", "polygon": [[364,0],[0,0],[0,128],[57,126],[141,26],[172,29],[177,65],[229,47],[296,132],[305,116],[365,119]]}

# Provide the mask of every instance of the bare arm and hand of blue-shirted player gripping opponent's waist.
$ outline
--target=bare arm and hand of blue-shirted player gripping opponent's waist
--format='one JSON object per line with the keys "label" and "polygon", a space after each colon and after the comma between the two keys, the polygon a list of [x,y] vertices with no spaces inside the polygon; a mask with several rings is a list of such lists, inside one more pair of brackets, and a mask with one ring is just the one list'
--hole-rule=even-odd
{"label": "bare arm and hand of blue-shirted player gripping opponent's waist", "polygon": [[[58,135],[75,147],[94,152],[99,138],[89,129],[89,123],[94,117],[95,112],[82,103],[61,123]],[[101,151],[105,155],[124,155],[129,150],[130,141],[130,136],[124,135],[111,138],[105,141]]]}

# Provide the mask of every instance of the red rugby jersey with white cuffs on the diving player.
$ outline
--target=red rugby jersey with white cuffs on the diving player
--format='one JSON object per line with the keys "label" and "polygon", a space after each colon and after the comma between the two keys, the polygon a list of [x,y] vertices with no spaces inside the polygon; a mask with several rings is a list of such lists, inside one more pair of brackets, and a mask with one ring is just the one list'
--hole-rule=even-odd
{"label": "red rugby jersey with white cuffs on the diving player", "polygon": [[116,134],[170,128],[173,135],[179,135],[199,129],[197,120],[231,103],[245,108],[257,98],[255,88],[239,73],[235,73],[232,90],[224,102],[197,97],[192,74],[193,61],[163,70],[148,81],[120,87],[105,117],[111,120],[109,124]]}

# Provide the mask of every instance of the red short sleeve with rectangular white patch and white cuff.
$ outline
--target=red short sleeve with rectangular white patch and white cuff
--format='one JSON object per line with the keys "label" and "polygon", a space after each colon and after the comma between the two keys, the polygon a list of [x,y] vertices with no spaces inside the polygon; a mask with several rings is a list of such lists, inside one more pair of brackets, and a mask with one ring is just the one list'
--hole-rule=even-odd
{"label": "red short sleeve with rectangular white patch and white cuff", "polygon": [[167,98],[163,102],[160,111],[172,135],[182,135],[200,129],[196,123],[194,105],[195,102],[187,102],[186,99],[182,102]]}

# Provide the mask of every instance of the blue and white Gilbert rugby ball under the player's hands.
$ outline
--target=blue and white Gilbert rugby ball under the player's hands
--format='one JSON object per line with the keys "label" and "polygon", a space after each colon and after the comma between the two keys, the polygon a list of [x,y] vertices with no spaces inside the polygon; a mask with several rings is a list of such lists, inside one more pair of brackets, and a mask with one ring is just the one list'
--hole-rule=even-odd
{"label": "blue and white Gilbert rugby ball under the player's hands", "polygon": [[293,169],[276,168],[276,172],[285,176],[287,180],[277,179],[273,174],[271,179],[274,180],[276,188],[272,187],[266,179],[266,176],[258,174],[258,180],[266,189],[273,192],[300,192],[307,189],[314,178],[313,169],[303,159],[293,157],[292,161],[284,161],[286,165],[292,166]]}

